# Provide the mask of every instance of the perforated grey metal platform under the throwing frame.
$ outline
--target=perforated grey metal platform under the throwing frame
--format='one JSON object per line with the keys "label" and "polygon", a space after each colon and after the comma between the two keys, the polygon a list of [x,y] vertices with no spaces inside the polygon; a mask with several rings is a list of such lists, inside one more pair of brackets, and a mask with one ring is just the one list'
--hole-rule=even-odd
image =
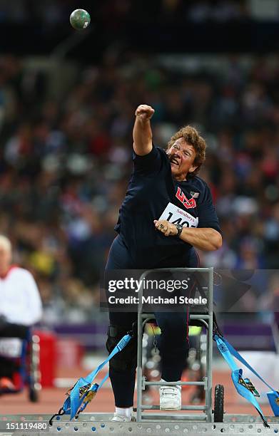
{"label": "perforated grey metal platform under the throwing frame", "polygon": [[[0,415],[0,425],[4,422],[49,421],[51,415]],[[225,415],[224,422],[183,422],[166,420],[152,420],[144,422],[110,422],[111,413],[83,413],[78,420],[69,421],[69,415],[55,419],[52,427],[46,432],[21,432],[15,435],[278,435],[279,417],[268,417],[270,428],[265,428],[260,417],[253,415]],[[12,435],[12,432],[3,432],[0,435]]]}

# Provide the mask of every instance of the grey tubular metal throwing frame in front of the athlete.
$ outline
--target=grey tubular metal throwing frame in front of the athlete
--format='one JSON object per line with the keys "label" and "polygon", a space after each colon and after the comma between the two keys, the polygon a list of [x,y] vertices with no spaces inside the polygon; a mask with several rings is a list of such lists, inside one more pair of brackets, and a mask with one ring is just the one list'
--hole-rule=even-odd
{"label": "grey tubular metal throwing frame in front of the athlete", "polygon": [[[179,385],[206,385],[206,404],[204,406],[182,406],[181,410],[204,410],[206,415],[193,415],[193,419],[206,419],[207,422],[213,422],[213,414],[212,414],[212,353],[213,353],[213,268],[163,268],[163,269],[150,269],[141,274],[141,284],[143,284],[143,279],[148,276],[153,271],[181,271],[181,272],[208,272],[208,313],[207,314],[199,314],[199,315],[191,315],[191,319],[197,319],[202,321],[207,328],[207,347],[206,347],[206,377],[203,382],[180,382],[176,383]],[[158,406],[143,406],[142,405],[142,390],[146,385],[173,385],[173,382],[146,382],[143,380],[142,375],[142,337],[143,337],[143,328],[148,322],[148,319],[155,318],[153,313],[143,313],[143,285],[141,285],[138,291],[138,358],[137,358],[137,407],[136,407],[136,420],[137,422],[141,422],[143,419],[152,419],[149,413],[146,415],[142,415],[142,410],[158,410]],[[208,321],[208,322],[205,322]],[[143,326],[144,321],[144,326]],[[163,415],[160,414],[161,417],[168,417],[170,419],[176,419],[177,415]],[[181,415],[180,415],[181,416]],[[192,415],[191,415],[192,416]],[[183,415],[184,420],[188,420],[190,415]]]}

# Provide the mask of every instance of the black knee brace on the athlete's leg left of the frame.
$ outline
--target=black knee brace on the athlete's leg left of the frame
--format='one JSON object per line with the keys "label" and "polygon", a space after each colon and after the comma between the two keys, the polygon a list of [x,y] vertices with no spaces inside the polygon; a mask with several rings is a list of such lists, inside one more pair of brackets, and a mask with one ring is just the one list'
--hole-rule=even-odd
{"label": "black knee brace on the athlete's leg left of the frame", "polygon": [[[118,371],[136,369],[138,338],[136,335],[135,323],[133,324],[132,331],[133,337],[126,345],[126,347],[123,348],[123,350],[117,353],[115,356],[113,356],[113,358],[111,358],[111,360],[109,361],[110,368]],[[108,353],[111,353],[111,351],[113,351],[113,348],[118,344],[123,336],[126,335],[126,333],[126,328],[115,325],[108,326],[108,339],[106,341],[106,349],[108,350]]]}

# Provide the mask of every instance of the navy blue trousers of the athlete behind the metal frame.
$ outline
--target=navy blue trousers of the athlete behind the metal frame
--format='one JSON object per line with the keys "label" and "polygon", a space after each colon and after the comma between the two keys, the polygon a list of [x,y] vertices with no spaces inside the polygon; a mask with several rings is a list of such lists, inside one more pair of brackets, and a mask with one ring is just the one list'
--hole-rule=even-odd
{"label": "navy blue trousers of the athlete behind the metal frame", "polygon": [[[185,259],[185,267],[198,267],[198,254],[194,249],[190,256]],[[181,266],[181,265],[179,265]],[[162,268],[163,266],[157,266]],[[164,267],[174,267],[164,266]],[[136,269],[131,264],[131,256],[123,239],[118,235],[114,239],[108,254],[106,269]],[[156,322],[161,329],[158,340],[158,349],[161,355],[162,378],[166,381],[181,380],[181,374],[186,363],[188,353],[187,342],[187,310],[181,312],[156,312]],[[110,312],[110,324],[131,330],[133,323],[137,322],[136,312]],[[133,394],[135,388],[136,368],[131,370],[116,370],[109,368],[109,376],[118,408],[133,406]]]}

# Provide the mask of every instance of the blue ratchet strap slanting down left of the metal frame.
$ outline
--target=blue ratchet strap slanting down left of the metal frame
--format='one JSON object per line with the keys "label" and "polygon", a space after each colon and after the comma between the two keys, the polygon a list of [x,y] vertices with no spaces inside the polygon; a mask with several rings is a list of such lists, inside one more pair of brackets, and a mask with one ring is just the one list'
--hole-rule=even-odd
{"label": "blue ratchet strap slanting down left of the metal frame", "polygon": [[104,360],[101,365],[98,365],[98,368],[96,370],[93,370],[91,373],[86,375],[85,378],[78,378],[75,385],[73,385],[73,388],[71,388],[67,395],[68,398],[66,398],[64,405],[61,407],[58,413],[55,413],[51,419],[49,420],[49,425],[52,425],[52,421],[54,420],[54,417],[59,415],[71,415],[70,419],[72,420],[73,417],[78,416],[79,413],[81,413],[88,403],[90,403],[91,400],[96,396],[96,393],[99,389],[103,386],[103,383],[108,378],[108,373],[105,375],[105,377],[101,380],[101,383],[98,385],[97,383],[93,383],[94,378],[96,375],[101,371],[103,366],[108,363],[111,358],[113,358],[114,355],[119,353],[123,350],[123,348],[126,347],[128,342],[131,340],[132,336],[130,334],[126,334],[123,336],[123,338],[118,342],[118,344],[113,348],[113,351],[111,351],[110,355],[108,355],[108,358]]}

